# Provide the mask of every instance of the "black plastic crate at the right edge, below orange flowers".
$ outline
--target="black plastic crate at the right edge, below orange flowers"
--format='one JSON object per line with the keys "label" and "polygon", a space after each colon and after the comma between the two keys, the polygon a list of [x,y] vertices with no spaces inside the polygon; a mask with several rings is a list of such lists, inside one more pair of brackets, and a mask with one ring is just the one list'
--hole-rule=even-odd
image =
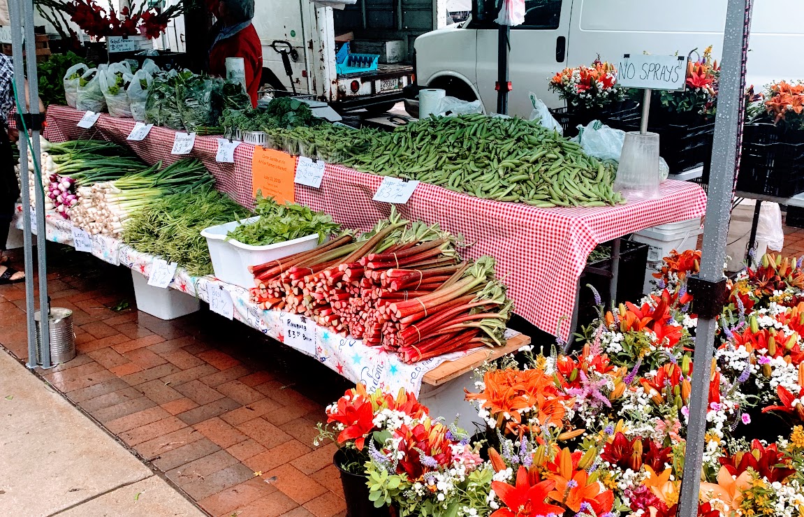
{"label": "black plastic crate at the right edge, below orange flowers", "polygon": [[788,198],[804,192],[804,142],[771,124],[746,125],[737,190]]}

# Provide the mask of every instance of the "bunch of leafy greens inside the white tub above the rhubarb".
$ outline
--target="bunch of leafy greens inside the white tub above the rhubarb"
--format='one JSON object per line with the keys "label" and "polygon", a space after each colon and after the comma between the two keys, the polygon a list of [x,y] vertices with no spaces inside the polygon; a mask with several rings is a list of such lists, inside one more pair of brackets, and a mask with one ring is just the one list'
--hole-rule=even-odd
{"label": "bunch of leafy greens inside the white tub above the rhubarb", "polygon": [[259,194],[255,211],[260,219],[228,232],[227,240],[233,239],[251,246],[265,246],[318,233],[320,244],[331,233],[340,229],[340,225],[334,223],[330,215],[297,204],[281,205],[273,198],[264,198]]}

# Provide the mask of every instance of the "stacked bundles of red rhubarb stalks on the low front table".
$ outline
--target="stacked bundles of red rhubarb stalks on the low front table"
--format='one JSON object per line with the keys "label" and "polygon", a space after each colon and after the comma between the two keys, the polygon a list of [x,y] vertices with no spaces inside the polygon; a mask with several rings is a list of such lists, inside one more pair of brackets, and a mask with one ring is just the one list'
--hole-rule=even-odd
{"label": "stacked bundles of red rhubarb stalks on the low front table", "polygon": [[405,363],[502,345],[513,304],[494,259],[461,262],[456,244],[437,225],[392,211],[371,232],[252,266],[252,302],[304,314]]}

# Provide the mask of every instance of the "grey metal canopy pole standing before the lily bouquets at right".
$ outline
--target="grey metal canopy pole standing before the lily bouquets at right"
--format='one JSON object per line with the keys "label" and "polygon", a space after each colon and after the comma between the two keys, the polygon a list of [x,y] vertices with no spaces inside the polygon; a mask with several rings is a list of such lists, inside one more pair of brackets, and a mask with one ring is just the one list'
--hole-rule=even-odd
{"label": "grey metal canopy pole standing before the lily bouquets at right", "polygon": [[[715,138],[712,146],[712,174],[709,177],[706,227],[701,255],[699,284],[712,297],[724,291],[723,261],[725,258],[728,220],[730,218],[734,177],[738,164],[737,149],[742,139],[743,91],[745,55],[748,44],[751,0],[728,0],[726,28],[723,38],[723,67],[717,100]],[[720,289],[720,291],[718,290]],[[698,298],[696,296],[696,308]],[[704,306],[708,300],[701,297]],[[709,363],[715,343],[715,315],[722,310],[716,303],[706,307],[704,318],[698,318],[693,360],[692,390],[687,450],[684,454],[684,475],[679,496],[679,516],[698,515],[700,473],[704,457],[704,434],[709,392]]]}

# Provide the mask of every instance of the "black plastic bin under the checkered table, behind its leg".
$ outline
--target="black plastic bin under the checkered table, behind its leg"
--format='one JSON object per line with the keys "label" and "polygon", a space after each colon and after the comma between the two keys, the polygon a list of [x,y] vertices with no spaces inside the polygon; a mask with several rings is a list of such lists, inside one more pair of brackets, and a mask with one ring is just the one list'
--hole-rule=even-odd
{"label": "black plastic bin under the checkered table, behind its leg", "polygon": [[[611,248],[613,242],[605,242],[600,246]],[[645,272],[648,261],[647,244],[634,240],[620,240],[620,269],[617,278],[617,303],[639,302],[644,293]],[[578,294],[578,329],[587,326],[597,318],[594,293],[587,284],[593,285],[601,295],[601,302],[609,308],[611,302],[611,259],[602,259],[586,265],[580,275],[580,293]]]}

